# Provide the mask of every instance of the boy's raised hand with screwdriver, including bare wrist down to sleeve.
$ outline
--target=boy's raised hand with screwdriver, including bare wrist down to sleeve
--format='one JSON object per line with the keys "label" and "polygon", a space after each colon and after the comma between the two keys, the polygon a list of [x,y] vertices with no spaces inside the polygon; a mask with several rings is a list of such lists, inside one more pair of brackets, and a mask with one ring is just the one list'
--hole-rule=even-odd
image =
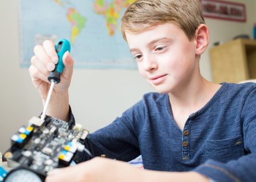
{"label": "boy's raised hand with screwdriver, including bare wrist down to sleeve", "polygon": [[[59,58],[55,50],[55,45],[52,41],[44,41],[42,46],[37,45],[34,47],[34,56],[31,58],[29,74],[34,87],[36,87],[37,91],[41,95],[43,103],[45,103],[48,90],[50,88],[48,76],[50,71],[54,70],[55,64],[58,63],[58,60]],[[48,106],[48,112],[46,114],[67,120],[69,111],[68,89],[72,78],[74,64],[69,52],[65,52],[63,56],[63,63],[65,67],[61,74],[61,82],[54,86]]]}

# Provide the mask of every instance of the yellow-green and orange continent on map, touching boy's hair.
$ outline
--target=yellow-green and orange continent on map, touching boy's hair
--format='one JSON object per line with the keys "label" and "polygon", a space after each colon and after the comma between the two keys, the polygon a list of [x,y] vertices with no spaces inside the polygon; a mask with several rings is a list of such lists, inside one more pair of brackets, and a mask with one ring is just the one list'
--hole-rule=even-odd
{"label": "yellow-green and orange continent on map, touching boy's hair", "polygon": [[135,0],[113,0],[113,2],[106,2],[105,0],[94,1],[94,11],[99,15],[104,15],[108,34],[112,36],[116,31],[117,20],[120,16],[121,10],[127,8]]}

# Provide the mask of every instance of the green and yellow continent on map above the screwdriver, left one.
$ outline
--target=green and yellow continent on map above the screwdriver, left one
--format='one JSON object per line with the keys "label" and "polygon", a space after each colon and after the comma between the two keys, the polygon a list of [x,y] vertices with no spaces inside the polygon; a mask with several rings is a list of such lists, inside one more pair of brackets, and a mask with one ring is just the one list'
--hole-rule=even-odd
{"label": "green and yellow continent on map above the screwdriver, left one", "polygon": [[86,24],[86,17],[80,15],[74,8],[69,8],[67,10],[67,20],[72,25],[71,30],[71,44],[75,43],[75,38],[79,35]]}

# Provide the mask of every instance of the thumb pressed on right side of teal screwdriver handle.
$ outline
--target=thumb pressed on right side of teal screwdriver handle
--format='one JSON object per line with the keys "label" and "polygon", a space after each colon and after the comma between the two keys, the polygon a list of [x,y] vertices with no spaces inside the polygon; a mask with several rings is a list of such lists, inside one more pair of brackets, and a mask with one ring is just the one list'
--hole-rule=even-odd
{"label": "thumb pressed on right side of teal screwdriver handle", "polygon": [[70,53],[67,51],[63,55],[64,71],[63,76],[67,79],[71,79],[73,73],[74,60],[72,59]]}

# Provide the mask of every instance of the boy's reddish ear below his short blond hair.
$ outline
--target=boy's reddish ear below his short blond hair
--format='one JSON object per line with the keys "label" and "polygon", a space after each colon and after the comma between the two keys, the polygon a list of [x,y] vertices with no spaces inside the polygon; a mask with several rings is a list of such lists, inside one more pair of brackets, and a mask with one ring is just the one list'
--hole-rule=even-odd
{"label": "boy's reddish ear below his short blond hair", "polygon": [[195,43],[197,55],[203,54],[209,44],[208,28],[205,24],[200,24],[195,31]]}

